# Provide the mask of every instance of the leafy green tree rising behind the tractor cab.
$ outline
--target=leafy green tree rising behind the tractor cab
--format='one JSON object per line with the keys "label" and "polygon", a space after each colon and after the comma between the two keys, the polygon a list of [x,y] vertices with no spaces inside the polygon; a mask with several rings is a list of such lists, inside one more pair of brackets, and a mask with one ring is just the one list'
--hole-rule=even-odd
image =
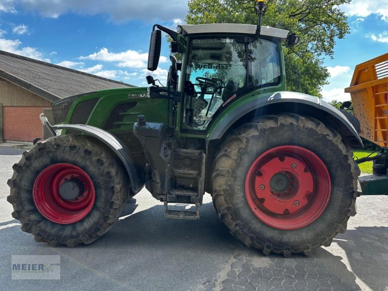
{"label": "leafy green tree rising behind the tractor cab", "polygon": [[[338,5],[351,0],[267,0],[263,25],[295,32],[299,45],[284,47],[287,86],[290,91],[322,97],[329,73],[323,66],[332,57],[337,38],[349,32],[347,17]],[[256,0],[189,0],[188,24],[257,24]]]}

